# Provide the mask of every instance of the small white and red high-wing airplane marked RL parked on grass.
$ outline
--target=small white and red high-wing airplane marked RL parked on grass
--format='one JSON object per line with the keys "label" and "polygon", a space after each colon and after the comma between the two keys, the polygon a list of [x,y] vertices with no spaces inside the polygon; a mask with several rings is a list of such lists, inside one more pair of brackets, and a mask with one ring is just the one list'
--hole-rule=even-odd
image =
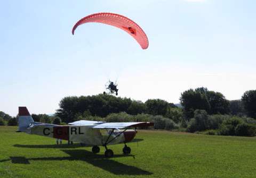
{"label": "small white and red high-wing airplane marked RL parked on grass", "polygon": [[[27,107],[19,107],[19,128],[17,132],[42,135],[45,137],[78,142],[92,146],[92,152],[97,154],[100,147],[105,147],[105,157],[113,157],[114,152],[108,145],[124,143],[123,153],[129,155],[131,148],[126,145],[134,139],[137,127],[154,126],[151,122],[101,122],[80,120],[68,125],[55,125],[35,122]],[[130,130],[129,128],[135,128]]]}

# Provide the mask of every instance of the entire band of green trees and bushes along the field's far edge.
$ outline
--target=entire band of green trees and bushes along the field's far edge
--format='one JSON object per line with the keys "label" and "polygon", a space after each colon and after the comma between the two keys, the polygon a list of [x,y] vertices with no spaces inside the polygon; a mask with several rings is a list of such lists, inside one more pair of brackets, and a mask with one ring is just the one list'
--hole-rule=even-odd
{"label": "entire band of green trees and bushes along the field's far edge", "polygon": [[[256,90],[246,91],[241,99],[229,101],[220,92],[204,87],[189,89],[181,93],[180,104],[182,108],[163,99],[142,102],[102,94],[70,96],[61,99],[54,116],[32,116],[36,122],[55,124],[77,120],[150,121],[155,123],[155,129],[247,136],[256,132]],[[11,120],[17,121],[4,113],[0,115],[0,124],[1,118],[8,124]]]}

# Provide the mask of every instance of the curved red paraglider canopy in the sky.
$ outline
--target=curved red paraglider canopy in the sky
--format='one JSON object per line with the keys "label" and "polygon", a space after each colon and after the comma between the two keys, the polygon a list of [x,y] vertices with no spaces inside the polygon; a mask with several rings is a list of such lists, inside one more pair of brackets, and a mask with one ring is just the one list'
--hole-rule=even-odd
{"label": "curved red paraglider canopy in the sky", "polygon": [[97,13],[88,15],[75,24],[72,29],[72,34],[74,35],[74,32],[78,26],[88,22],[105,23],[109,24],[110,26],[120,28],[129,33],[135,40],[137,40],[142,49],[148,48],[148,38],[145,32],[140,28],[140,26],[138,26],[137,23],[123,15],[114,13]]}

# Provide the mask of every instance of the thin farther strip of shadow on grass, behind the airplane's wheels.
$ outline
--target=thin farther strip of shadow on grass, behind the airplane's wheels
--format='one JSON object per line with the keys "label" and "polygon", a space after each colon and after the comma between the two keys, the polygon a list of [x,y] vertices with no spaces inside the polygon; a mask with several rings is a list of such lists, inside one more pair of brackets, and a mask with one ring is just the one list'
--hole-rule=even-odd
{"label": "thin farther strip of shadow on grass, behind the airplane's wheels", "polygon": [[[143,139],[133,139],[131,142],[140,142]],[[67,144],[61,144],[61,145],[19,145],[15,144],[13,147],[19,147],[19,148],[79,148],[79,147],[87,147],[82,146],[79,143],[75,143],[73,145],[67,145]]]}

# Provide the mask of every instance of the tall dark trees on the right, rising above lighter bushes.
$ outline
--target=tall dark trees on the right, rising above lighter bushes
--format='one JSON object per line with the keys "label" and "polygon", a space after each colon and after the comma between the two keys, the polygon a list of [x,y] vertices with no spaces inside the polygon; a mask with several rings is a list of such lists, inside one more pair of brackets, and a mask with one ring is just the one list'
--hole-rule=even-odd
{"label": "tall dark trees on the right, rising above lighter bushes", "polygon": [[208,114],[231,114],[256,118],[256,90],[244,92],[239,100],[227,100],[220,92],[207,88],[189,89],[182,92],[180,103],[187,118],[192,118],[196,109]]}

